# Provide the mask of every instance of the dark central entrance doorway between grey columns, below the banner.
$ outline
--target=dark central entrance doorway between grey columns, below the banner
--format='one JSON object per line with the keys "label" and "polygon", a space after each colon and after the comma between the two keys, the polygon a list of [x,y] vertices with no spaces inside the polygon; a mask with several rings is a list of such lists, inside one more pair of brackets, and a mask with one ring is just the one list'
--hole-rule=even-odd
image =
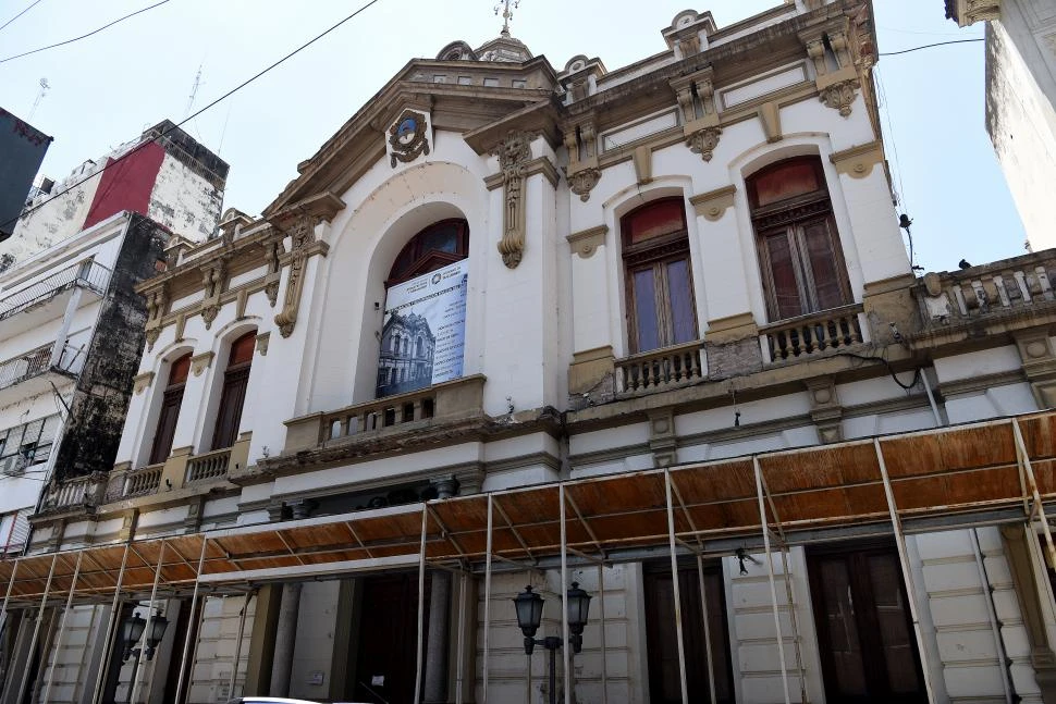
{"label": "dark central entrance doorway between grey columns, below the banner", "polygon": [[[363,580],[356,653],[356,702],[410,704],[418,667],[418,575],[380,575]],[[426,579],[425,623],[429,622]],[[425,645],[422,645],[425,647]]]}

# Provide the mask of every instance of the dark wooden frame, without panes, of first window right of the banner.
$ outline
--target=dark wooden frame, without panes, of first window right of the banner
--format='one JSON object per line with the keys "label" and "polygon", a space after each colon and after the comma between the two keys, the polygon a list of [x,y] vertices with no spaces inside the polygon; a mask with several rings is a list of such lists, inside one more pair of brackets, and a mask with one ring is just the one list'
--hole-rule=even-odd
{"label": "dark wooden frame, without panes, of first window right of the banner", "polygon": [[[680,226],[641,242],[634,242],[633,219],[640,217],[648,209],[660,209],[678,205],[677,212]],[[685,199],[682,196],[658,198],[635,208],[619,219],[619,233],[624,275],[624,294],[627,320],[627,343],[631,355],[638,355],[658,349],[665,349],[677,345],[688,344],[700,338],[700,325],[697,320],[697,296],[693,288],[692,256],[689,247],[689,227],[686,223]],[[671,282],[667,265],[685,261],[687,301],[692,331],[688,339],[676,342],[676,320],[674,305],[671,297]],[[653,280],[653,313],[655,316],[656,338],[655,347],[642,348],[641,330],[638,316],[638,298],[635,286],[635,274],[641,271],[652,271]]]}

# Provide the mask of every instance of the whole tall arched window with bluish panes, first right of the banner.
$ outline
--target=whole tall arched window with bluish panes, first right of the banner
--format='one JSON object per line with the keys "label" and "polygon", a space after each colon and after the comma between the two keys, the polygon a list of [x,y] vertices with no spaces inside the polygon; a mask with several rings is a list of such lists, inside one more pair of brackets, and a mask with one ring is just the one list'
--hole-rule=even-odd
{"label": "whole tall arched window with bluish panes, first right of the banner", "polygon": [[682,198],[642,206],[619,221],[631,353],[697,338],[689,236]]}

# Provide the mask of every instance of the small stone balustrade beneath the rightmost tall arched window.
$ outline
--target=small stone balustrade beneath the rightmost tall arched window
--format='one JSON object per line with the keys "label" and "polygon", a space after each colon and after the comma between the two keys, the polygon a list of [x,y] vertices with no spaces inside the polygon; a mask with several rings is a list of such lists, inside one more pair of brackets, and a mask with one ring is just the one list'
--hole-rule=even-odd
{"label": "small stone balustrade beneath the rightmost tall arched window", "polygon": [[861,313],[860,304],[832,308],[760,328],[759,336],[772,362],[821,356],[864,342]]}

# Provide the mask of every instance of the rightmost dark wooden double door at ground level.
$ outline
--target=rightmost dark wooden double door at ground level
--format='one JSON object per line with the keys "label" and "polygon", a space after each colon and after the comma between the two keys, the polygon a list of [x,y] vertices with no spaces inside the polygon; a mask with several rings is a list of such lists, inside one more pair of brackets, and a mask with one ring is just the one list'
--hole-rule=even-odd
{"label": "rightmost dark wooden double door at ground level", "polygon": [[891,545],[808,552],[825,701],[925,702],[898,553]]}

